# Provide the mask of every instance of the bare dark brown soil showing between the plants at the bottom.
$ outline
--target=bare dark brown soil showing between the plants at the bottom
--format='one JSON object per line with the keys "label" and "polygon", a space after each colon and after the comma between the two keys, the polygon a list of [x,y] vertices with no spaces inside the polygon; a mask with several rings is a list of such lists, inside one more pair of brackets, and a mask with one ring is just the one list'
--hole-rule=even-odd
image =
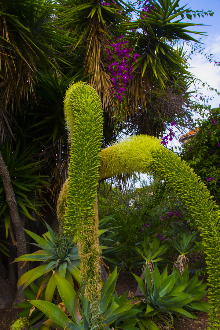
{"label": "bare dark brown soil showing between the plants at the bottom", "polygon": [[[203,254],[192,253],[188,255],[189,258],[189,269],[203,269],[205,267]],[[140,274],[139,274],[140,275]],[[194,275],[190,275],[192,277]],[[203,279],[204,276],[200,276],[199,280]],[[204,282],[207,282],[207,276],[204,278]],[[132,293],[135,293],[137,289],[137,281],[134,279],[130,271],[120,271],[118,280],[116,283],[116,292],[118,295],[123,295],[125,292],[128,292],[128,298],[132,296]],[[202,298],[202,300],[208,302],[207,294]],[[22,309],[15,307],[6,307],[3,310],[0,310],[0,329],[1,330],[10,330],[10,325],[13,320],[16,319],[16,315],[20,313]],[[208,316],[206,313],[197,312],[195,313],[198,319],[192,319],[187,317],[180,317],[179,319],[173,319],[173,328],[175,330],[204,330],[208,326]],[[37,326],[32,325],[33,329]],[[169,329],[166,324],[161,329]]]}

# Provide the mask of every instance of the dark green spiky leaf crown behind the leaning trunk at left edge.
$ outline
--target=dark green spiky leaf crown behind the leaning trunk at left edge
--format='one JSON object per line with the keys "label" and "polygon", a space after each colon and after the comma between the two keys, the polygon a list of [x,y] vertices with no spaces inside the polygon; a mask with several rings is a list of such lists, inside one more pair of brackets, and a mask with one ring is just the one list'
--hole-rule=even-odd
{"label": "dark green spiky leaf crown behind the leaning trunk at left edge", "polygon": [[[4,145],[1,144],[0,151],[9,171],[19,213],[35,220],[33,213],[35,216],[40,215],[39,206],[46,202],[42,197],[42,188],[47,185],[46,176],[39,175],[44,161],[35,161],[36,149],[26,147],[20,140],[11,143],[6,140]],[[10,214],[1,177],[0,192],[0,216],[5,219],[6,237],[8,237]]]}

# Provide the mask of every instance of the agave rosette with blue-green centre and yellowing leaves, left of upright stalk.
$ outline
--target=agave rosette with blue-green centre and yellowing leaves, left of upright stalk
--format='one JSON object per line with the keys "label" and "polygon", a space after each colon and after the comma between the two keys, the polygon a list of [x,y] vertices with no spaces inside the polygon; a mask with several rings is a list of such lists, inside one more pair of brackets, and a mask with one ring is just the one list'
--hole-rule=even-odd
{"label": "agave rosette with blue-green centre and yellowing leaves, left of upright stalk", "polygon": [[23,285],[26,288],[30,283],[41,277],[43,274],[47,274],[44,280],[41,282],[37,293],[37,299],[43,290],[45,291],[45,300],[52,301],[56,284],[52,277],[52,270],[56,271],[69,281],[70,285],[74,287],[74,281],[80,284],[79,276],[79,256],[78,247],[73,243],[73,237],[67,237],[65,234],[60,236],[54,235],[52,229],[46,223],[48,232],[40,237],[29,230],[25,229],[26,233],[31,236],[36,242],[33,243],[39,247],[40,250],[22,255],[14,260],[17,261],[43,261],[43,264],[31,269],[27,273],[23,274],[18,280],[18,288]]}

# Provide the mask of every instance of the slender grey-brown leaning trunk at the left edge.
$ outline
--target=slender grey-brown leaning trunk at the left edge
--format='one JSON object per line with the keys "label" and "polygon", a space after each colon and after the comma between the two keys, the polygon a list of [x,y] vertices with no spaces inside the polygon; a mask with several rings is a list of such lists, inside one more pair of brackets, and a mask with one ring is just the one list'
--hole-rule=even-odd
{"label": "slender grey-brown leaning trunk at the left edge", "polygon": [[[15,229],[17,256],[19,257],[22,254],[27,253],[25,235],[24,235],[22,220],[19,215],[17,204],[16,204],[16,197],[15,197],[14,190],[12,187],[12,182],[11,182],[7,167],[2,158],[1,152],[0,152],[0,176],[2,178],[2,182],[4,185],[6,201],[8,203],[10,216],[11,216],[12,223],[13,223],[14,229]],[[26,265],[23,268],[21,268],[22,264],[23,264],[23,262],[18,262],[18,265],[17,265],[18,279],[21,277],[21,275],[23,275],[27,271]],[[21,301],[21,299],[22,299],[21,294],[19,292],[17,292],[15,303],[19,303]]]}

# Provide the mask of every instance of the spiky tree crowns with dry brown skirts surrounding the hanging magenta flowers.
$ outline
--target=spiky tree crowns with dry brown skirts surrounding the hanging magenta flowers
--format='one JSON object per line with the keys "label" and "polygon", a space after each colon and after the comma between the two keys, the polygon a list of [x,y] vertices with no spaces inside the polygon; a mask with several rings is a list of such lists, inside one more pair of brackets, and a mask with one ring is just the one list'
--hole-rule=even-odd
{"label": "spiky tree crowns with dry brown skirts surrounding the hanging magenta flowers", "polygon": [[[191,74],[183,52],[175,50],[171,42],[196,41],[186,28],[202,24],[182,22],[190,10],[178,7],[179,0],[149,0],[147,15],[142,8],[136,20],[129,19],[126,10],[131,8],[123,1],[62,0],[59,3],[62,6],[58,17],[78,35],[75,47],[84,58],[84,75],[89,76],[103,103],[104,140],[115,137],[110,127],[117,120],[123,121],[123,129],[132,126],[136,134],[161,135],[166,121],[181,116],[185,103],[189,102],[185,76],[189,79]],[[141,33],[135,32],[140,28]],[[133,54],[137,51],[140,55],[133,63],[133,78],[126,88],[124,104],[116,102],[111,95],[110,61],[106,56],[110,35],[126,36]],[[168,100],[172,110],[171,107],[164,110],[164,105],[158,104]]]}

